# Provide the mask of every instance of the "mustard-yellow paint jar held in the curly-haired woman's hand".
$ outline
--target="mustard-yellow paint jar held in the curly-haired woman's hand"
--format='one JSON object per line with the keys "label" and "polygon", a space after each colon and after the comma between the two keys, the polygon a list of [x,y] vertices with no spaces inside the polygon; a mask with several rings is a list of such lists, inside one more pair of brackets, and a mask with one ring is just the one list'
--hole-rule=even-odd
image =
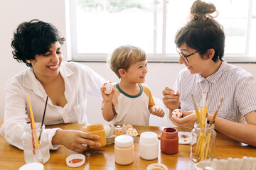
{"label": "mustard-yellow paint jar held in the curly-haired woman's hand", "polygon": [[[93,125],[87,125],[87,130],[88,133],[93,134],[93,135],[99,135],[100,139],[97,140],[97,142],[100,142],[101,147],[105,147],[107,145],[106,142],[106,135],[105,135],[105,130],[103,128],[102,123],[98,124],[93,124]],[[94,146],[89,146],[90,148],[96,148]]]}

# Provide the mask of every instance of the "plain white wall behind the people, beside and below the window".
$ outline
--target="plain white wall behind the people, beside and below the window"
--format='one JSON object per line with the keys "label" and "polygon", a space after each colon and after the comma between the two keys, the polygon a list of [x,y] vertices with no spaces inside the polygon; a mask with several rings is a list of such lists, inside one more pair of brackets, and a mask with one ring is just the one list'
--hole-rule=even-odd
{"label": "plain white wall behind the people, beside and below the window", "polygon": [[[68,0],[65,0],[68,1]],[[4,82],[26,69],[25,64],[18,63],[11,55],[11,38],[19,23],[38,18],[53,23],[64,37],[66,33],[64,0],[2,0],[0,1],[0,120],[4,120],[5,92]],[[63,54],[67,58],[67,43],[63,45]],[[105,63],[85,63],[96,72],[111,81],[118,81],[117,77]],[[256,64],[236,64],[256,76]],[[161,98],[161,91],[165,86],[173,86],[178,72],[183,68],[179,64],[149,63],[149,73],[146,84],[151,88],[152,94]],[[100,111],[101,99],[90,98],[88,115],[91,123],[102,120]]]}

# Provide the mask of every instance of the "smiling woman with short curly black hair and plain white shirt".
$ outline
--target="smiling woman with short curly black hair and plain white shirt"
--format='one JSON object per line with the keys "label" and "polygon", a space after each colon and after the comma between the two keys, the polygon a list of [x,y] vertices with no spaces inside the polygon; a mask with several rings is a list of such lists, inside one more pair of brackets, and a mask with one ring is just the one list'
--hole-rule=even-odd
{"label": "smiling woman with short curly black hair and plain white shirt", "polygon": [[[64,41],[52,24],[38,20],[21,23],[14,32],[14,59],[30,68],[6,81],[6,107],[0,132],[11,145],[23,149],[21,137],[31,117],[27,94],[35,122],[42,121],[49,96],[45,125],[88,123],[87,95],[100,97],[105,79],[85,65],[63,62]],[[64,145],[83,152],[87,145],[100,147],[100,143],[93,141],[99,138],[97,135],[59,128],[47,131],[50,149]]]}

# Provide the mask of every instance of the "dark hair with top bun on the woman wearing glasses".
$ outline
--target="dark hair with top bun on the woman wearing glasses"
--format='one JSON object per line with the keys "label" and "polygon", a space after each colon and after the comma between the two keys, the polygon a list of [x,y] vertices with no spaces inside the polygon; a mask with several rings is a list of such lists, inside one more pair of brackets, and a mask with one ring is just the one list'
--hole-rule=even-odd
{"label": "dark hair with top bun on the woman wearing glasses", "polygon": [[210,15],[214,12],[218,16],[213,4],[201,0],[195,1],[191,6],[190,21],[176,33],[174,40],[176,46],[180,47],[185,42],[188,47],[195,49],[201,55],[213,48],[215,54],[212,60],[223,61],[225,34],[223,26]]}

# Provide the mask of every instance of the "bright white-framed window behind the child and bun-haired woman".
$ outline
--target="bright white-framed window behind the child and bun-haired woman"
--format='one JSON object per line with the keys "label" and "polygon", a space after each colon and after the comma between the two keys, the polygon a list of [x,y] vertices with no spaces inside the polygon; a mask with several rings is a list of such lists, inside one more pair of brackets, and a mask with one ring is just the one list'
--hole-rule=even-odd
{"label": "bright white-framed window behind the child and bun-haired woman", "polygon": [[[225,31],[227,61],[256,61],[256,3],[210,0]],[[119,45],[142,47],[149,61],[177,61],[174,35],[191,0],[70,0],[73,60],[105,61]]]}

